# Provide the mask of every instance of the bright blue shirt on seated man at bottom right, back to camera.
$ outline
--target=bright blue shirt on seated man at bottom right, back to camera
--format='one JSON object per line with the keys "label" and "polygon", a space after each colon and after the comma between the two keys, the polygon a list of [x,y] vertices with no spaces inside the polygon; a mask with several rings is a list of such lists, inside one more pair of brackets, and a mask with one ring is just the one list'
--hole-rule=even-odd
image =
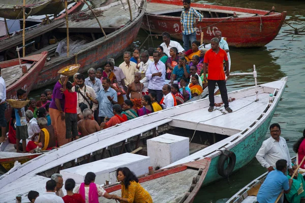
{"label": "bright blue shirt on seated man at bottom right, back to camera", "polygon": [[259,203],[274,203],[283,189],[289,190],[287,176],[278,170],[271,171],[258,191],[257,201]]}

